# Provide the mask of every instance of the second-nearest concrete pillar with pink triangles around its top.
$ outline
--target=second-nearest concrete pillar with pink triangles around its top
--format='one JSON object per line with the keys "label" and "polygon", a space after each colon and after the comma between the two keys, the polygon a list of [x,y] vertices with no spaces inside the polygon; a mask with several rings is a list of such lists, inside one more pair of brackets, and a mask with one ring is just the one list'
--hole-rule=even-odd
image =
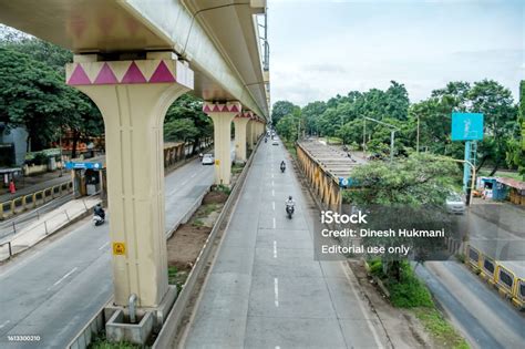
{"label": "second-nearest concrete pillar with pink triangles around its top", "polygon": [[206,102],[203,111],[214,121],[215,184],[228,185],[231,176],[231,121],[240,113],[239,102]]}

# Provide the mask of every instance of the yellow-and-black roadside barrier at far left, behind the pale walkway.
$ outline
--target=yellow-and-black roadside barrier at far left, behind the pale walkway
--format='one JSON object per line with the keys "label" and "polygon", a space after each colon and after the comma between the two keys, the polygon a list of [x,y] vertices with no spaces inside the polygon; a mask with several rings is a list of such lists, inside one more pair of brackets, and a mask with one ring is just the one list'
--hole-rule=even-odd
{"label": "yellow-and-black roadside barrier at far left, behind the pale walkway", "polygon": [[73,182],[65,182],[59,185],[47,187],[43,191],[19,196],[8,202],[1,203],[0,220],[12,217],[24,211],[37,208],[50,201],[64,196],[73,191]]}

